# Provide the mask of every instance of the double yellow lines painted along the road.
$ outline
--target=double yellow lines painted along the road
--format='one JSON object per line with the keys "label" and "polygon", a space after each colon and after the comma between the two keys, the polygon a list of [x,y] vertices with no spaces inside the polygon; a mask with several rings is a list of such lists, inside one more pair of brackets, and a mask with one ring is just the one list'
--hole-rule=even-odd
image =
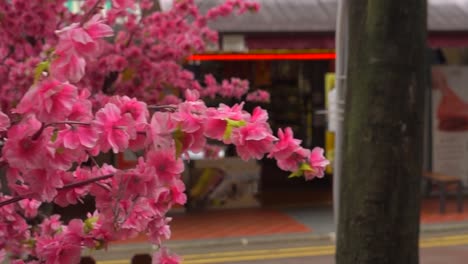
{"label": "double yellow lines painted along the road", "polygon": [[[468,245],[468,235],[441,236],[421,239],[420,248],[448,247]],[[184,264],[225,263],[235,261],[255,261],[292,257],[326,256],[335,253],[335,246],[313,246],[279,249],[259,249],[245,251],[227,251],[183,256]],[[105,260],[97,264],[129,264],[130,260]]]}

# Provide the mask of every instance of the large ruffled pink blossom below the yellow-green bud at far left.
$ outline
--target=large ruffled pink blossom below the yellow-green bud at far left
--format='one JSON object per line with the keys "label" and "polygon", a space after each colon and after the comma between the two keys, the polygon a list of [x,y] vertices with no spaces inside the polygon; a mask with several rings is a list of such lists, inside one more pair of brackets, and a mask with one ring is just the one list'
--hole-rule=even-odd
{"label": "large ruffled pink blossom below the yellow-green bud at far left", "polygon": [[71,113],[77,93],[71,84],[46,80],[29,89],[14,111],[35,114],[42,122],[63,121]]}

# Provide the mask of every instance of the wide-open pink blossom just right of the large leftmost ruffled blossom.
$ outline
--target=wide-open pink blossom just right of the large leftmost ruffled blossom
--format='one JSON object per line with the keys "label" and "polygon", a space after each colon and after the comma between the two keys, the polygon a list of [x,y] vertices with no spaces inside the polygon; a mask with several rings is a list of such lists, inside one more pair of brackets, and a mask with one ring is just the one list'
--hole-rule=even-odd
{"label": "wide-open pink blossom just right of the large leftmost ruffled blossom", "polygon": [[120,109],[108,103],[96,113],[94,126],[101,133],[99,145],[103,152],[112,148],[118,153],[128,148],[128,142],[136,138],[134,120],[129,113],[122,115]]}

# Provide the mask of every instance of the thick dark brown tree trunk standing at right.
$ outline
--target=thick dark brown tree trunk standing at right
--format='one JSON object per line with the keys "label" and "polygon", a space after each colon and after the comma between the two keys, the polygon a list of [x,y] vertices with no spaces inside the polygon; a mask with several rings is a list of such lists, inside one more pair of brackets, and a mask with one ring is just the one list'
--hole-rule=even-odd
{"label": "thick dark brown tree trunk standing at right", "polygon": [[337,264],[416,264],[426,0],[349,6]]}

